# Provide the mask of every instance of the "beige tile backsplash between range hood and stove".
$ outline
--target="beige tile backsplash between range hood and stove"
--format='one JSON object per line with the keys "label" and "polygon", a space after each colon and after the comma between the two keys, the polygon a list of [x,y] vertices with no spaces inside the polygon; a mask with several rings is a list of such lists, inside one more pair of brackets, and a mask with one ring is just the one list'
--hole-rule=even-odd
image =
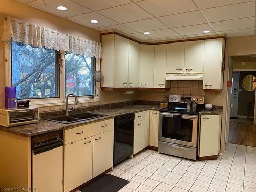
{"label": "beige tile backsplash between range hood and stove", "polygon": [[171,81],[170,94],[205,96],[203,81]]}

